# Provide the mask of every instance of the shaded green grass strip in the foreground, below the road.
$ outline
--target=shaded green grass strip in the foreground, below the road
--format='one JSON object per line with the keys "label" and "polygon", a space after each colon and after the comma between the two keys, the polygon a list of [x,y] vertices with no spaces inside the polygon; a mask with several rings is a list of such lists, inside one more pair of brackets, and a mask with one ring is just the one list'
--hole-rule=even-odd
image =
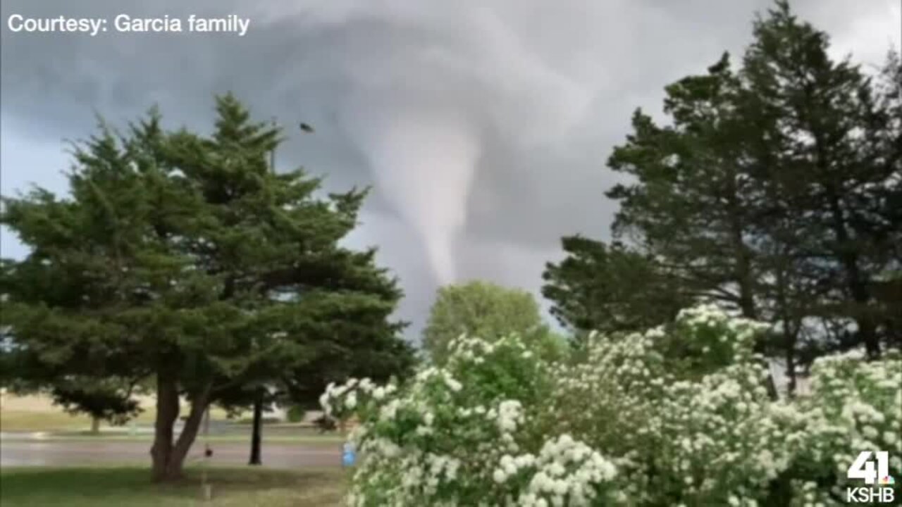
{"label": "shaded green grass strip in the foreground, below the road", "polygon": [[346,475],[340,468],[266,470],[210,468],[213,501],[201,500],[201,470],[180,484],[151,484],[140,467],[22,467],[0,470],[3,507],[329,507],[341,505]]}

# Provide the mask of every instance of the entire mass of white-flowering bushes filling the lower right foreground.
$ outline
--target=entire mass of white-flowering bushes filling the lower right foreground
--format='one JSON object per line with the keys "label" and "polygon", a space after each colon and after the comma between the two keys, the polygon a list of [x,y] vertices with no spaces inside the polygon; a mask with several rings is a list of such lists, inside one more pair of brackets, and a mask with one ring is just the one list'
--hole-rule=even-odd
{"label": "entire mass of white-flowering bushes filling the lower right foreground", "polygon": [[771,401],[763,330],[703,306],[566,362],[462,336],[406,385],[330,385],[327,413],[361,421],[349,504],[814,507],[844,503],[861,450],[902,469],[897,357],[824,358],[810,396]]}

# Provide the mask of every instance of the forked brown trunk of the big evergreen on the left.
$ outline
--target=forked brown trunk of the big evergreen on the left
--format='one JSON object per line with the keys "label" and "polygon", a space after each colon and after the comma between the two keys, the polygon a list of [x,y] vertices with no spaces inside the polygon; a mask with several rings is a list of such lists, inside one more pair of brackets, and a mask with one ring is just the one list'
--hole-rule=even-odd
{"label": "forked brown trunk of the big evergreen on the left", "polygon": [[198,392],[191,400],[188,419],[173,439],[173,426],[179,419],[179,389],[174,377],[157,375],[157,418],[154,423],[152,480],[155,483],[174,482],[182,478],[185,456],[198,436],[200,422],[207,410],[210,387]]}

